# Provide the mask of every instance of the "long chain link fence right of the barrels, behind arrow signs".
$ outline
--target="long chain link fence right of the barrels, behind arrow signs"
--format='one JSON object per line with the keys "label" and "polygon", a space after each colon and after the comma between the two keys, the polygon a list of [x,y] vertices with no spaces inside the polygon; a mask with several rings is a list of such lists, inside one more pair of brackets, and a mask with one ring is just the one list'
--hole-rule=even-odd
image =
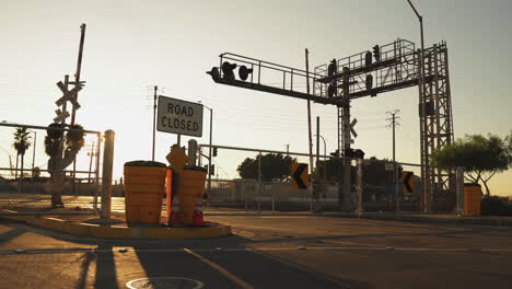
{"label": "long chain link fence right of the barrels, behind arrow signs", "polygon": [[[209,146],[199,146],[199,164],[208,167]],[[318,158],[317,158],[318,157]],[[442,180],[429,186],[421,182],[421,165],[314,155],[311,185],[294,188],[291,163],[310,163],[309,154],[225,146],[212,146],[209,206],[247,210],[346,210],[366,212],[457,212],[461,184],[455,169],[444,167]],[[350,163],[348,186],[344,164]],[[428,201],[429,200],[429,201]],[[457,203],[458,201],[458,203]]]}

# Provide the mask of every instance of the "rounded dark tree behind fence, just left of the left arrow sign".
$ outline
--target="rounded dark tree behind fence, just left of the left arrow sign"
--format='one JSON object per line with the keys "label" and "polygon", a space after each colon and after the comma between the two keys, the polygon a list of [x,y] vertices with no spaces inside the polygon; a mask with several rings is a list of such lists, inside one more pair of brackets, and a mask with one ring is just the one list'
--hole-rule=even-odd
{"label": "rounded dark tree behind fence, just left of the left arrow sign", "polygon": [[280,153],[268,153],[254,159],[245,159],[236,169],[242,178],[258,178],[259,158],[261,158],[261,181],[264,182],[282,182],[290,175],[292,159],[290,155]]}

